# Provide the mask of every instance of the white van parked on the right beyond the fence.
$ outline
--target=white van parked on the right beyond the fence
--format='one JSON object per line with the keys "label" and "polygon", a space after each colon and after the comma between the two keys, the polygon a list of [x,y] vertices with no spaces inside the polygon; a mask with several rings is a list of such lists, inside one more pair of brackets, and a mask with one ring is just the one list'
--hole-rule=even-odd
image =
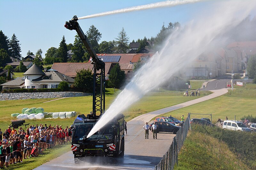
{"label": "white van parked on the right beyond the fence", "polygon": [[239,121],[233,121],[233,120],[226,120],[223,122],[222,125],[223,129],[229,129],[229,130],[236,130],[236,131],[246,131],[250,132],[251,129],[247,128],[244,123]]}

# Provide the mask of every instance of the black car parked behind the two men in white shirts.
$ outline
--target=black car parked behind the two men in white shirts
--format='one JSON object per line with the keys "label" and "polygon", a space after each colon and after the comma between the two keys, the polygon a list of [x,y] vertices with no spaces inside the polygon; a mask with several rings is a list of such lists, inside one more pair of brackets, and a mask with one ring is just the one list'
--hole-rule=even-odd
{"label": "black car parked behind the two men in white shirts", "polygon": [[[158,121],[155,121],[155,122],[158,125],[158,127],[156,129],[157,133],[158,132],[172,132],[173,134],[176,134],[178,132],[178,130],[180,130],[179,126],[175,126],[171,122],[158,122]],[[150,126],[149,130],[151,130],[151,127],[153,124],[154,124],[154,122],[149,125]]]}

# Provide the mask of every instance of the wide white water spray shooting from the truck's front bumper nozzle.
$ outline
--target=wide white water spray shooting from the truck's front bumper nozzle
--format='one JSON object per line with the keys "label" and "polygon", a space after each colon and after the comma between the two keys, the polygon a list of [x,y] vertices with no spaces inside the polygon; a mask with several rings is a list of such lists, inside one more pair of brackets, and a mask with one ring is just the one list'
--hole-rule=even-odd
{"label": "wide white water spray shooting from the truck's front bumper nozzle", "polygon": [[138,70],[87,137],[97,132],[113,117],[124,112],[147,92],[156,89],[206,49],[216,47],[217,43],[225,39],[225,37],[220,37],[219,41],[216,40],[220,33],[237,26],[255,7],[256,1],[219,2],[214,13],[202,15],[199,20],[193,20],[184,29],[172,33],[165,41],[161,52],[156,53]]}

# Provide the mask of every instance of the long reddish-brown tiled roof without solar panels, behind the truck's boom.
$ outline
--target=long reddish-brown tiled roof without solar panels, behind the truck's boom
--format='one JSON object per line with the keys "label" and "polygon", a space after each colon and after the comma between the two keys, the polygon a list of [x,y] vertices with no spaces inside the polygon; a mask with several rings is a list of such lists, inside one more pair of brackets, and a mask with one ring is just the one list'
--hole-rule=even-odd
{"label": "long reddish-brown tiled roof without solar panels, behind the truck's boom", "polygon": [[[108,74],[112,63],[105,63],[105,76]],[[85,69],[92,70],[93,65],[91,63],[53,63],[52,69],[59,71],[69,77],[76,77],[76,71]]]}

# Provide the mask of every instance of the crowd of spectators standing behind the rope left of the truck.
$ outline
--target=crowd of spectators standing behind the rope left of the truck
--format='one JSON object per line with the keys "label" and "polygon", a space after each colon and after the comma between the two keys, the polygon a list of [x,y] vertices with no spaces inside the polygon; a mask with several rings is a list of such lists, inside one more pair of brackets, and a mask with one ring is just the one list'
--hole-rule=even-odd
{"label": "crowd of spectators standing behind the rope left of the truck", "polygon": [[4,165],[7,167],[23,159],[38,157],[53,146],[71,143],[68,129],[68,126],[62,129],[59,125],[47,127],[46,124],[32,125],[25,130],[20,127],[18,132],[10,126],[4,133],[0,129],[0,169],[4,169]]}

